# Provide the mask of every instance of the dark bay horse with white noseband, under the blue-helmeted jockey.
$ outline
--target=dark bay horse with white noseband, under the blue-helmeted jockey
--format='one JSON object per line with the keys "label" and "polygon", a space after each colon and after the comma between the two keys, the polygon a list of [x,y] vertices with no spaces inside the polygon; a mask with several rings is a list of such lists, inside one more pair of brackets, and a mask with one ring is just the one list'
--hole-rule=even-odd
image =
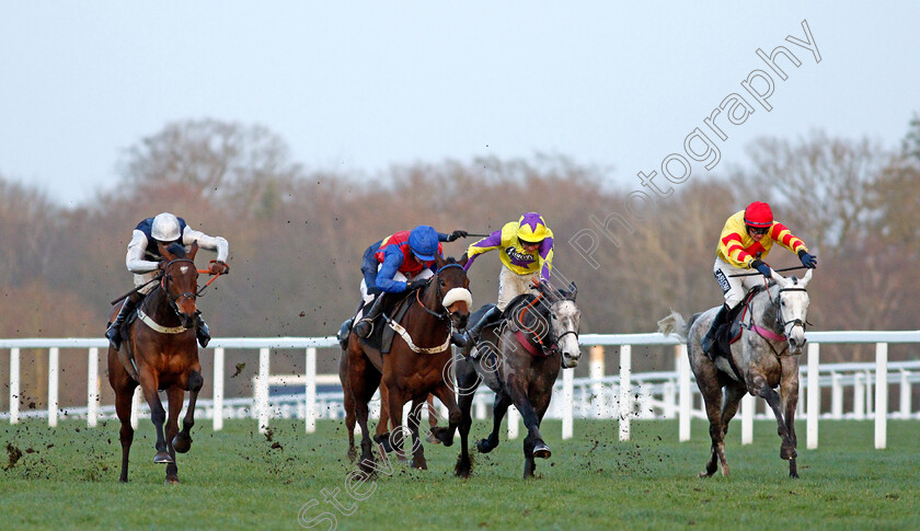
{"label": "dark bay horse with white noseband, under the blue-helmeted jockey", "polygon": [[[399,322],[390,321],[398,332],[389,354],[363,342],[356,334],[348,336],[347,348],[340,360],[340,379],[345,393],[345,423],[348,428],[348,454],[354,450],[354,423],[361,427],[359,469],[370,474],[375,457],[368,431],[368,403],[378,386],[386,386],[387,408],[394,427],[402,426],[402,407],[412,401],[409,430],[412,435],[412,466],[427,469],[418,438],[421,409],[429,394],[437,396],[448,409],[449,425],[433,428],[434,436],[445,446],[453,443],[453,432],[460,424],[460,409],[453,389],[445,381],[445,367],[452,358],[452,328],[463,328],[470,316],[472,296],[463,264],[453,258],[437,257],[437,273],[418,288],[409,301],[409,309]],[[382,409],[382,407],[381,407]],[[350,425],[350,427],[349,427]],[[386,426],[386,424],[384,424]],[[401,429],[401,428],[399,428]],[[402,432],[394,434],[401,439]],[[375,437],[394,439],[389,432]],[[402,447],[393,440],[392,447]]]}

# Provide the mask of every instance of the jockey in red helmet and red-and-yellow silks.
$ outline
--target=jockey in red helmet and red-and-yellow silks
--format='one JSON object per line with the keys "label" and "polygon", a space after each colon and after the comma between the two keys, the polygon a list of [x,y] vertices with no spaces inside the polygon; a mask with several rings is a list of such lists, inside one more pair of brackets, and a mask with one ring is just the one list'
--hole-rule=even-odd
{"label": "jockey in red helmet and red-and-yellow silks", "polygon": [[773,272],[762,258],[767,257],[774,243],[796,253],[805,267],[815,268],[818,265],[817,257],[808,254],[805,242],[793,235],[784,224],[773,220],[773,211],[766,203],[754,201],[725,221],[713,266],[713,275],[722,288],[725,303],[702,340],[703,351],[710,358],[713,357],[711,350],[718,326],[725,322],[728,312],[741,302],[745,293],[761,282],[758,276],[733,275],[757,269],[764,277],[771,278]]}

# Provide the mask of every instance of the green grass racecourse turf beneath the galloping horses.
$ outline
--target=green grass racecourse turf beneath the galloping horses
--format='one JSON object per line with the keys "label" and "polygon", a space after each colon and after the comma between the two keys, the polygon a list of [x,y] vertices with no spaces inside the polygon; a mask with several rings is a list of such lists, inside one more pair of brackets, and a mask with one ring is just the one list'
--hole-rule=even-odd
{"label": "green grass racecourse turf beneath the galloping horses", "polygon": [[[302,509],[315,529],[332,529],[332,517],[338,529],[920,529],[920,423],[889,422],[888,449],[874,450],[871,422],[824,422],[810,451],[802,424],[797,481],[779,458],[775,424],[755,423],[747,447],[739,427],[728,435],[731,477],[697,478],[709,448],[701,420],[683,443],[676,422],[634,422],[629,442],[602,422],[576,422],[575,438],[562,441],[560,424],[548,422],[553,457],[538,461],[533,481],[520,478],[521,439],[474,453],[468,481],[452,473],[457,443],[426,445],[428,471],[393,459],[392,475],[360,486],[365,499],[355,500],[344,490],[353,466],[336,422],[311,436],[302,423],[274,422],[271,437],[252,420],[219,432],[199,423],[192,451],[179,458],[183,483],[171,486],[152,464],[148,420],[128,484],[117,481],[117,423],[26,422],[0,428],[0,527],[301,529]],[[487,429],[478,422],[472,435]]]}

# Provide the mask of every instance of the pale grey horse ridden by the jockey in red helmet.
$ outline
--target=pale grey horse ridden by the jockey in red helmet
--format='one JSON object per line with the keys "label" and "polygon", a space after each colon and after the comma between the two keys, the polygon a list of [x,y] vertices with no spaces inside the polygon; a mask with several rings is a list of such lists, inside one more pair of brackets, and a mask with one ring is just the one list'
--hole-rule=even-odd
{"label": "pale grey horse ridden by the jockey in red helmet", "polygon": [[[795,407],[798,404],[798,356],[805,346],[809,303],[805,287],[812,279],[812,272],[808,269],[801,280],[773,272],[773,281],[750,299],[741,316],[740,337],[732,344],[731,353],[726,353],[728,357],[716,356],[715,361],[706,357],[700,343],[718,312],[717,307],[693,315],[689,323],[674,311],[658,322],[659,332],[676,334],[687,342],[690,367],[705,402],[712,451],[700,477],[712,476],[720,464],[722,475],[728,475],[725,434],[747,393],[762,397],[770,405],[777,417],[777,432],[782,439],[780,458],[789,461],[789,475],[798,477]],[[774,388],[779,388],[780,393]]]}

